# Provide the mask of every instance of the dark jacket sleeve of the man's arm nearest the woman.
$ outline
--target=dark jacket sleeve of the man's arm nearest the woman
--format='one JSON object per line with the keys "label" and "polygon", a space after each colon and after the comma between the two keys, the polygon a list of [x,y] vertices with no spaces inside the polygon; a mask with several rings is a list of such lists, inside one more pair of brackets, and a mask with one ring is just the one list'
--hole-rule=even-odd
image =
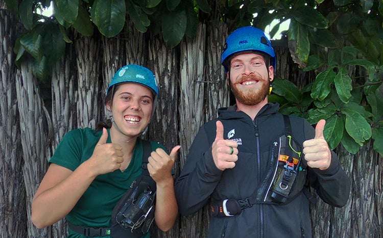
{"label": "dark jacket sleeve of the man's arm nearest the woman", "polygon": [[220,181],[222,171],[214,164],[211,143],[202,127],[190,147],[186,163],[175,182],[181,215],[196,213],[208,201]]}

